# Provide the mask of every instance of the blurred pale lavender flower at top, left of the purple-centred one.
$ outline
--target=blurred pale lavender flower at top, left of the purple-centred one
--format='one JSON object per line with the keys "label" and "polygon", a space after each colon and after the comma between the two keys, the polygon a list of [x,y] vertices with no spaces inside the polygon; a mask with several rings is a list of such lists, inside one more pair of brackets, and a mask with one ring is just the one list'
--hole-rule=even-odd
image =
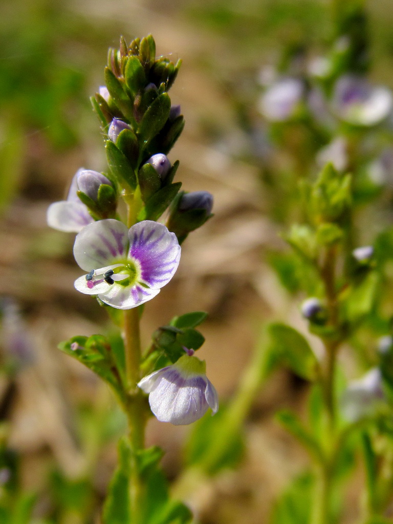
{"label": "blurred pale lavender flower at top, left of the purple-centred one", "polygon": [[259,111],[271,122],[292,118],[304,94],[303,82],[285,78],[272,84],[259,100]]}

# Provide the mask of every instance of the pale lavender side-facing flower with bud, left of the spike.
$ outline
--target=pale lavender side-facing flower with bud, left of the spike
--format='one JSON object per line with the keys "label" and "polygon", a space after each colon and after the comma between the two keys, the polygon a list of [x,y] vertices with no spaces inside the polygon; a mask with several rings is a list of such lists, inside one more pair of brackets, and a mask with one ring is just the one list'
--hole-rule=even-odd
{"label": "pale lavender side-facing flower with bud, left of the spike", "polygon": [[112,185],[112,182],[97,171],[78,169],[72,179],[67,200],[50,204],[47,212],[48,225],[59,231],[79,233],[84,226],[94,222],[88,208],[79,199],[78,190],[96,200],[101,184]]}

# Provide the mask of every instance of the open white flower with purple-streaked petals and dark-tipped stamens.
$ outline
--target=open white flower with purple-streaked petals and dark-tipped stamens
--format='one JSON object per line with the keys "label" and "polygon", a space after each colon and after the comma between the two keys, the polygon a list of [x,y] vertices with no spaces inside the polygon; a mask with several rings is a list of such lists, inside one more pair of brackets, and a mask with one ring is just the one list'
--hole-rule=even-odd
{"label": "open white flower with purple-streaked petals and dark-tipped stamens", "polygon": [[75,289],[117,309],[135,308],[155,297],[176,272],[180,246],[174,233],[151,220],[128,227],[106,219],[78,233],[74,257],[88,272]]}

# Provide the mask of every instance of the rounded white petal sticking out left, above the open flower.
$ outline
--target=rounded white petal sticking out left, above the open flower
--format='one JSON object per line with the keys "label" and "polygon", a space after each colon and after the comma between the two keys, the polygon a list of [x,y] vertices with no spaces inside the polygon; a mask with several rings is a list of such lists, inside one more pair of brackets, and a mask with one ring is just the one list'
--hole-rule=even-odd
{"label": "rounded white petal sticking out left, above the open flower", "polygon": [[83,227],[94,222],[88,208],[81,201],[62,200],[50,204],[47,211],[50,227],[68,233],[79,233]]}

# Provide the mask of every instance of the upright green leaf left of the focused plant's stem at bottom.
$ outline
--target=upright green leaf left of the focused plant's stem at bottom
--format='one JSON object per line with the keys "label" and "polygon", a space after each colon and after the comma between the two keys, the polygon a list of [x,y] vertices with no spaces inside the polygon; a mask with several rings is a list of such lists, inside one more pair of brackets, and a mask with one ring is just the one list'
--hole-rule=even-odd
{"label": "upright green leaf left of the focused plant's stem at bottom", "polygon": [[131,451],[125,438],[119,441],[119,461],[108,487],[103,510],[103,524],[125,524],[132,522],[129,500],[129,467]]}

